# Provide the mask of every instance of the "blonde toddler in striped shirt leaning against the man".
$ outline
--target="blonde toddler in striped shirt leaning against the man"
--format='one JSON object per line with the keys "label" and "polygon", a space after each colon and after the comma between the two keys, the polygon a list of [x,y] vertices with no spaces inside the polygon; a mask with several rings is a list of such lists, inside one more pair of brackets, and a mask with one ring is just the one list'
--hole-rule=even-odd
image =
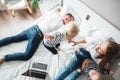
{"label": "blonde toddler in striped shirt leaning against the man", "polygon": [[79,32],[79,27],[74,22],[62,26],[60,29],[47,33],[44,36],[43,44],[53,54],[57,54],[57,49],[60,42],[67,39],[68,42],[72,40]]}

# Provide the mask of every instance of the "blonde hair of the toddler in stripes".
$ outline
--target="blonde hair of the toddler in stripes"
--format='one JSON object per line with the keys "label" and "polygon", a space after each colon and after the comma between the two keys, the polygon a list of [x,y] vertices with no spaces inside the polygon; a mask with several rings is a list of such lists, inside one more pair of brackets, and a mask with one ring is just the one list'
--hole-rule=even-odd
{"label": "blonde hair of the toddler in stripes", "polygon": [[77,26],[77,24],[75,24],[74,21],[71,21],[62,26],[62,29],[64,29],[67,35],[70,35],[72,38],[74,38],[80,31],[79,27]]}

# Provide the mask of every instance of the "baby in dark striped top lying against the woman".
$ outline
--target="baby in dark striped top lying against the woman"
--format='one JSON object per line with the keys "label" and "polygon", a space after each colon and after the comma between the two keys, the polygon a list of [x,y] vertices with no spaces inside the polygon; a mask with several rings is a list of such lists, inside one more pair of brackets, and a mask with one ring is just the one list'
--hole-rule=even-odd
{"label": "baby in dark striped top lying against the woman", "polygon": [[77,73],[88,75],[91,80],[103,80],[98,65],[92,59],[85,59],[82,63],[82,68],[79,68]]}

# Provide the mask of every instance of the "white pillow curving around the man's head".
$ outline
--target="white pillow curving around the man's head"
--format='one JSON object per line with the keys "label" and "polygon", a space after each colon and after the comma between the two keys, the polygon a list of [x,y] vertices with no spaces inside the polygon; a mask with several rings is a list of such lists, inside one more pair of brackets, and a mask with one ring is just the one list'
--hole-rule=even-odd
{"label": "white pillow curving around the man's head", "polygon": [[72,14],[73,17],[74,17],[74,19],[75,19],[75,23],[76,23],[78,26],[80,26],[82,20],[81,20],[81,18],[79,17],[79,15],[75,12],[75,10],[74,10],[72,7],[70,7],[70,6],[63,6],[63,7],[62,7],[62,10],[61,10],[61,12],[60,12],[60,15],[63,17],[63,16],[65,16],[67,13]]}

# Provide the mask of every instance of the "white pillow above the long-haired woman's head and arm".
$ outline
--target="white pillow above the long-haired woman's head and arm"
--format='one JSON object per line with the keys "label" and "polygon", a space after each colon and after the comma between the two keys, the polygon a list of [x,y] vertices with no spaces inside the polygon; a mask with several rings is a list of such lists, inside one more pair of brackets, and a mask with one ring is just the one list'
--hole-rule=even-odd
{"label": "white pillow above the long-haired woman's head and arm", "polygon": [[75,38],[75,40],[86,37],[93,37],[101,41],[112,40],[112,37],[110,37],[106,31],[97,29],[94,25],[91,26],[86,20],[82,20],[80,25],[80,32],[76,37],[77,38]]}

